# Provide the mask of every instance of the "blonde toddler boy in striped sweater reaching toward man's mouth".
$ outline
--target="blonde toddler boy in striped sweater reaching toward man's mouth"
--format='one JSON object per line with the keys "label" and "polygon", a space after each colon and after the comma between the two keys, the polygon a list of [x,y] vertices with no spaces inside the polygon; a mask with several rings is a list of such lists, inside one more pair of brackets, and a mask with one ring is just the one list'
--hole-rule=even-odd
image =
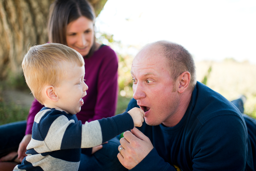
{"label": "blonde toddler boy in striped sweater reaching toward man's mouth", "polygon": [[28,156],[14,170],[78,170],[81,148],[102,144],[144,121],[140,108],[85,124],[77,120],[88,87],[84,59],[72,48],[33,46],[22,68],[32,94],[45,107],[35,116]]}

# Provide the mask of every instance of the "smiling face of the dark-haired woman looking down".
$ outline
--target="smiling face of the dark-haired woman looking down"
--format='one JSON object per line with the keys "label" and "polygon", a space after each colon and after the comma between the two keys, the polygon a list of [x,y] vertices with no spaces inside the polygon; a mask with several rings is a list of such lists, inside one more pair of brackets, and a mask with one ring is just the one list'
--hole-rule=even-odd
{"label": "smiling face of the dark-haired woman looking down", "polygon": [[68,23],[66,33],[67,45],[86,56],[94,41],[93,21],[82,16]]}

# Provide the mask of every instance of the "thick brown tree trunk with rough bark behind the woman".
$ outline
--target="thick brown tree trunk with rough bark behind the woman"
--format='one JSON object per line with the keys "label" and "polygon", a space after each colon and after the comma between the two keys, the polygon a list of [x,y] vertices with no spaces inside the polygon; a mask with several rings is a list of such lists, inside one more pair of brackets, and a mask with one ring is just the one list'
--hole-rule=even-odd
{"label": "thick brown tree trunk with rough bark behind the woman", "polygon": [[[107,0],[89,0],[96,16]],[[54,0],[0,0],[0,80],[22,76],[28,47],[48,41],[47,20]]]}

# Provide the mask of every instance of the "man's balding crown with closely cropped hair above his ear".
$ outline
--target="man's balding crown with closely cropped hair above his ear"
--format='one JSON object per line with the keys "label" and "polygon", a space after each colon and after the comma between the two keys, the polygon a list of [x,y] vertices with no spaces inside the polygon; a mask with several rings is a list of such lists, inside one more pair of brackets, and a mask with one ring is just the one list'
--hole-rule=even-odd
{"label": "man's balding crown with closely cropped hair above his ear", "polygon": [[173,83],[183,72],[188,71],[190,73],[189,88],[193,90],[196,85],[196,69],[194,60],[188,50],[173,42],[157,41],[146,45],[138,54],[153,49],[154,53],[160,53],[161,56],[166,58],[167,62],[164,68],[170,73]]}

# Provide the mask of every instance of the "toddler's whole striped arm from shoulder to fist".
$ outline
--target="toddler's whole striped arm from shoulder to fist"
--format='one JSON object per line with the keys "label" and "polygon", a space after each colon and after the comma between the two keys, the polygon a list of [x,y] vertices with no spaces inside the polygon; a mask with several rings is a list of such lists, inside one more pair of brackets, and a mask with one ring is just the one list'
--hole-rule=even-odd
{"label": "toddler's whole striped arm from shoulder to fist", "polygon": [[[53,114],[50,109],[41,111],[43,113],[39,112],[35,118],[32,139],[27,149],[34,148],[38,152],[45,152],[100,145],[124,131],[133,129],[134,123],[135,126],[139,126],[140,122],[142,124],[143,114],[139,111],[137,108],[129,111],[132,116],[124,112],[113,117],[86,122],[84,125],[80,121],[75,123],[74,120],[68,120],[57,110]],[[44,117],[45,114],[46,117]],[[40,143],[40,141],[44,141],[44,143]],[[38,143],[45,144],[46,149]]]}

